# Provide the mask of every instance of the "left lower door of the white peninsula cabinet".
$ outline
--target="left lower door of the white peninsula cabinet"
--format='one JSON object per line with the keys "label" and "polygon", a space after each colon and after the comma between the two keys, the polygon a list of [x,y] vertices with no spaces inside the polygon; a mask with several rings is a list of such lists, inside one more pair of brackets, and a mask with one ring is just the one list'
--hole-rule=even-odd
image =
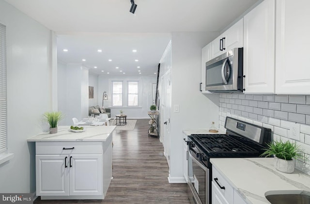
{"label": "left lower door of the white peninsula cabinet", "polygon": [[69,155],[36,155],[36,195],[69,195]]}

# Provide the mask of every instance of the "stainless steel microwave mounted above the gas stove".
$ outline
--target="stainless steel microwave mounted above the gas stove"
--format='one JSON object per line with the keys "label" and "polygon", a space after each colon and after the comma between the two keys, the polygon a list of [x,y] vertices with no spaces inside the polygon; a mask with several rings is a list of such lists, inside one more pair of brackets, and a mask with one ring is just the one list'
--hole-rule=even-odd
{"label": "stainless steel microwave mounted above the gas stove", "polygon": [[243,48],[234,48],[205,64],[205,90],[243,92]]}

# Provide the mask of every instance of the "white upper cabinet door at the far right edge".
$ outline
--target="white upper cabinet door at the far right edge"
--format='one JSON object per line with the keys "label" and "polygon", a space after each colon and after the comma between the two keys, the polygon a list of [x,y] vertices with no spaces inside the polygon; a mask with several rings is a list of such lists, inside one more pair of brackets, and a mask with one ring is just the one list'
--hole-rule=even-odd
{"label": "white upper cabinet door at the far right edge", "polygon": [[310,94],[309,7],[309,0],[277,0],[276,94]]}

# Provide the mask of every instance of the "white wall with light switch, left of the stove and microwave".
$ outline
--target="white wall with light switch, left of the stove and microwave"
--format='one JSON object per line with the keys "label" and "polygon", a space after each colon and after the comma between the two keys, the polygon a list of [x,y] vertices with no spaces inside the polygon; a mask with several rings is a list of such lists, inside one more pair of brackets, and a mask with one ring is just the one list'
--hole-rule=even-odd
{"label": "white wall with light switch, left of the stove and microwave", "polygon": [[[183,180],[182,129],[218,126],[218,94],[204,95],[201,82],[201,49],[218,35],[217,32],[172,33],[171,67],[171,135],[170,182]],[[179,105],[179,113],[173,106]]]}

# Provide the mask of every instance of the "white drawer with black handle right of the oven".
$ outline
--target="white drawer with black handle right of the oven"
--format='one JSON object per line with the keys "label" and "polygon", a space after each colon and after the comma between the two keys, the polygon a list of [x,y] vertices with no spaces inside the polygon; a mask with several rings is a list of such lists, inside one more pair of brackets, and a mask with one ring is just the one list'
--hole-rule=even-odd
{"label": "white drawer with black handle right of the oven", "polygon": [[[222,193],[222,195],[227,200],[227,202],[229,204],[232,204],[233,203],[233,187],[226,181],[226,179],[214,167],[212,167],[212,181],[215,184],[214,186],[216,186],[216,188]],[[214,186],[212,186],[212,188]],[[224,187],[225,189],[221,189],[219,186]]]}

